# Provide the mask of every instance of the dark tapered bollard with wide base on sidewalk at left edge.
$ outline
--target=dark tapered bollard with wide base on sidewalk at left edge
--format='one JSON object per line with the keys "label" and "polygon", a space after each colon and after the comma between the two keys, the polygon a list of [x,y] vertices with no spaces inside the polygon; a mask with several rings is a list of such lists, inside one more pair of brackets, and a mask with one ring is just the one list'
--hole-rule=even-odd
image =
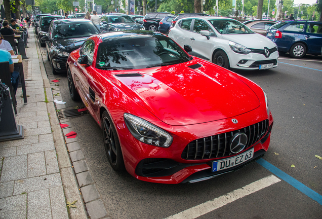
{"label": "dark tapered bollard with wide base on sidewalk at left edge", "polygon": [[[1,86],[1,85],[0,85]],[[15,140],[24,138],[23,126],[16,124],[13,113],[12,100],[9,88],[0,88],[1,114],[0,114],[0,141]]]}

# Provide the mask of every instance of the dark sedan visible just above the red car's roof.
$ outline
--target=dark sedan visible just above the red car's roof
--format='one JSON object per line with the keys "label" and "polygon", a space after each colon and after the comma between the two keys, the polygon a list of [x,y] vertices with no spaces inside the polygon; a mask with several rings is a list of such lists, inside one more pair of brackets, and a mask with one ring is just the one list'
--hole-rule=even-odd
{"label": "dark sedan visible just above the red car's roof", "polygon": [[123,31],[123,30],[144,30],[141,24],[135,21],[128,15],[103,15],[101,17],[100,29],[102,31]]}

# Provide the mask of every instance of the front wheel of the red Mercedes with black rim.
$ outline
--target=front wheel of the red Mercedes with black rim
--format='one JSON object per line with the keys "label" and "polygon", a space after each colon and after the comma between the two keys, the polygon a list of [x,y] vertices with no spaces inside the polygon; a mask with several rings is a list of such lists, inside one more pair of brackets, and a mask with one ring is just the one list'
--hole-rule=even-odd
{"label": "front wheel of the red Mercedes with black rim", "polygon": [[106,155],[111,167],[116,171],[124,171],[122,150],[114,125],[106,111],[102,115],[102,132]]}

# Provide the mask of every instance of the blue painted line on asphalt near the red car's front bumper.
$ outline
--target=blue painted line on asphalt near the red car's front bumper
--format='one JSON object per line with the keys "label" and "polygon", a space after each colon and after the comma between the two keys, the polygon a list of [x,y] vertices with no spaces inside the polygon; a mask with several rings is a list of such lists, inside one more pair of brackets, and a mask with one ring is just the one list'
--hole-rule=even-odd
{"label": "blue painted line on asphalt near the red car's front bumper", "polygon": [[308,188],[307,186],[305,186],[304,184],[302,184],[301,182],[299,182],[298,180],[296,180],[292,176],[281,171],[280,169],[278,169],[277,167],[268,163],[264,159],[261,158],[261,159],[257,160],[256,162],[259,163],[260,165],[262,165],[263,167],[265,167],[266,169],[268,169],[269,171],[271,171],[273,174],[275,174],[279,178],[288,182],[288,184],[290,184],[294,188],[298,189],[300,192],[304,193],[305,195],[307,195],[308,197],[310,197],[311,199],[317,201],[317,203],[322,205],[322,196],[320,194],[314,192],[313,190],[311,190],[310,188]]}

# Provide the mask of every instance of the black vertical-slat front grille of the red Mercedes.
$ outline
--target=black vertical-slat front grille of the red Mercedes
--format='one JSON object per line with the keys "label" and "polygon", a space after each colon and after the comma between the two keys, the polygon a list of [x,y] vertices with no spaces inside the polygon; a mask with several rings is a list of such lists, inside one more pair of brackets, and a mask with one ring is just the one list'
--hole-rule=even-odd
{"label": "black vertical-slat front grille of the red Mercedes", "polygon": [[193,140],[185,147],[181,158],[184,160],[205,160],[230,156],[232,155],[230,142],[232,136],[238,132],[244,132],[247,135],[247,144],[243,150],[245,151],[265,136],[268,125],[268,120],[264,120],[242,129]]}

